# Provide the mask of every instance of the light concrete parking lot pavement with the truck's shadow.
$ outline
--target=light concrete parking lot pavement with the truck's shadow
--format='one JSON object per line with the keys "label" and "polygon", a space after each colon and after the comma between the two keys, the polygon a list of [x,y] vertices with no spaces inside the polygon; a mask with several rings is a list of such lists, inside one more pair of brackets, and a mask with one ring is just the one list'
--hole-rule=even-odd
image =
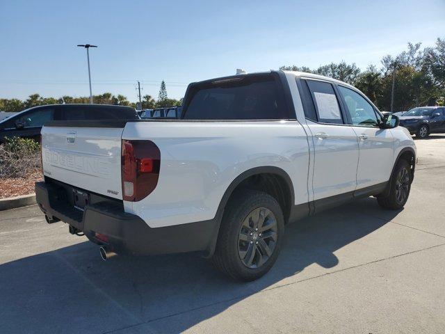
{"label": "light concrete parking lot pavement with the truck's shadow", "polygon": [[0,212],[1,332],[444,333],[445,136],[416,145],[405,209],[366,198],[290,225],[247,284],[195,254],[103,262],[36,206]]}

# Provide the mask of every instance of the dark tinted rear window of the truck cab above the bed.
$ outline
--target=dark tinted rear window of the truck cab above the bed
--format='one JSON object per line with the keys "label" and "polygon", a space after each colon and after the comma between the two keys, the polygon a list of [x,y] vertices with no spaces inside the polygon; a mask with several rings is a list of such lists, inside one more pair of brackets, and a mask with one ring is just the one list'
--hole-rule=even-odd
{"label": "dark tinted rear window of the truck cab above the bed", "polygon": [[281,120],[289,118],[284,94],[272,74],[197,84],[184,110],[186,120]]}

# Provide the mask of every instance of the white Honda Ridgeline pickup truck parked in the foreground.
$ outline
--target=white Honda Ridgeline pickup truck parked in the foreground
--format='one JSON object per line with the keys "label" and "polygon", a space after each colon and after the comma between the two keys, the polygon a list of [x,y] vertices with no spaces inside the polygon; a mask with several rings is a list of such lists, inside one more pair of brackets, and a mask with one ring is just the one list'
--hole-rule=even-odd
{"label": "white Honda Ridgeline pickup truck parked in the foreground", "polygon": [[181,119],[49,122],[35,193],[104,259],[201,251],[254,280],[298,218],[366,196],[401,209],[415,161],[407,129],[356,88],[271,71],[190,84]]}

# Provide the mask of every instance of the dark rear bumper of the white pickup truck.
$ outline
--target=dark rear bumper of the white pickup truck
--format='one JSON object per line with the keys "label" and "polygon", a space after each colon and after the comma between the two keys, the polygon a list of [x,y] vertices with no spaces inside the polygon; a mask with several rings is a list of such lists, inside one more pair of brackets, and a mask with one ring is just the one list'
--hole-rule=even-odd
{"label": "dark rear bumper of the white pickup truck", "polygon": [[[72,225],[90,241],[115,253],[149,255],[210,250],[218,232],[216,220],[150,228],[139,216],[124,212],[122,202],[114,200],[86,205],[81,212],[66,200],[63,189],[51,183],[35,183],[35,199],[42,212],[49,219],[58,218]],[[102,234],[101,239],[97,234]]]}

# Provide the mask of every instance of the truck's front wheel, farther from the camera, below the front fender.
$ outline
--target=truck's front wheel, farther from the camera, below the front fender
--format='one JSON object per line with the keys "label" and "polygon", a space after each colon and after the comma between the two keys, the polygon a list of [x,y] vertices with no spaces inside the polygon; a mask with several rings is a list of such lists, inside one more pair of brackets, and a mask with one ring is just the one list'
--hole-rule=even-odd
{"label": "truck's front wheel, farther from the camera, below the front fender", "polygon": [[410,196],[412,174],[410,165],[405,159],[398,161],[394,172],[391,175],[391,189],[386,197],[378,196],[377,201],[380,207],[391,210],[402,209]]}

